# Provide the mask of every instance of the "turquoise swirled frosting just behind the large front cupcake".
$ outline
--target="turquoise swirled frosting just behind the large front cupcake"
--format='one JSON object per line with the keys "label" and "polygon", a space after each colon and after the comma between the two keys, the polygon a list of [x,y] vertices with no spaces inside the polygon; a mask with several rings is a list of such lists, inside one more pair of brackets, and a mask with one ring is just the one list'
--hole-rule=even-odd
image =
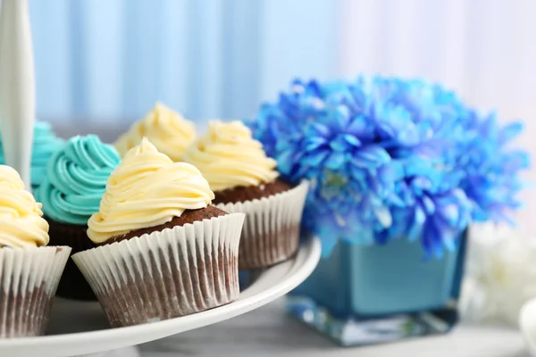
{"label": "turquoise swirled frosting just behind the large front cupcake", "polygon": [[52,156],[46,179],[36,191],[46,217],[85,226],[98,212],[106,181],[120,161],[113,145],[96,135],[72,137]]}

